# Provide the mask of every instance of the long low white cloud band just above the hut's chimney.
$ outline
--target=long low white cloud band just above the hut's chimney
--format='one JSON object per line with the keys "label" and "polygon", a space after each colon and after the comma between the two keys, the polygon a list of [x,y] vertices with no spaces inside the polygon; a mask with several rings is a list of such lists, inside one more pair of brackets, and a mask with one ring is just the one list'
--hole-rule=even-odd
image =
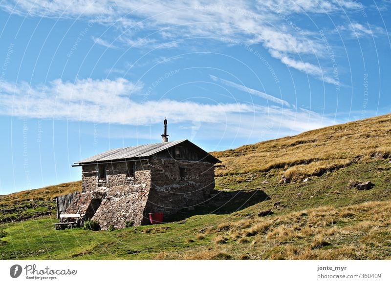
{"label": "long low white cloud band just above the hut's chimney", "polygon": [[57,79],[36,87],[25,82],[3,82],[1,87],[0,115],[140,126],[161,123],[167,117],[171,123],[193,125],[191,136],[213,129],[215,138],[264,140],[277,132],[299,133],[336,123],[312,111],[283,106],[169,99],[137,102],[132,100],[133,94],[142,93],[143,85],[122,78],[75,82]]}

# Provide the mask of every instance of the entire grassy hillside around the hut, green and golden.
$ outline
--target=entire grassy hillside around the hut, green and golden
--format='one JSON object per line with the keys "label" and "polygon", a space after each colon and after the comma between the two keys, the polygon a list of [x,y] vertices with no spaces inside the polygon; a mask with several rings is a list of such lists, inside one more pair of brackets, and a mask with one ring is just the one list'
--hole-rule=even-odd
{"label": "entire grassy hillside around the hut, green and golden", "polygon": [[[386,115],[216,152],[226,165],[217,189],[263,190],[270,200],[112,232],[55,231],[53,215],[3,223],[1,259],[391,259],[390,131]],[[359,191],[351,181],[375,186]],[[23,214],[31,208],[21,204],[76,189],[80,182],[1,196],[0,208]],[[258,217],[266,209],[274,214]]]}

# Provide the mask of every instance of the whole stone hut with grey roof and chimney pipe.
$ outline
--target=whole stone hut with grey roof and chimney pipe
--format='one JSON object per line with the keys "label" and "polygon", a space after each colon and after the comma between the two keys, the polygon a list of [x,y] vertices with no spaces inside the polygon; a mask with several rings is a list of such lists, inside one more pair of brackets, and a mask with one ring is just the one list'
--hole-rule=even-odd
{"label": "whole stone hut with grey roof and chimney pipe", "polygon": [[112,149],[76,162],[82,167],[82,192],[67,214],[80,213],[101,229],[149,224],[149,213],[170,219],[210,198],[215,187],[214,167],[220,162],[188,140]]}

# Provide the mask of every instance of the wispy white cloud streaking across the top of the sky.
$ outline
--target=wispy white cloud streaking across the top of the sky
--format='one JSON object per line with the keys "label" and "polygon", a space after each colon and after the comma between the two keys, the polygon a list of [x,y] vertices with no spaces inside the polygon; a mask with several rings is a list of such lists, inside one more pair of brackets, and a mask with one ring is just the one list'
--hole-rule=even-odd
{"label": "wispy white cloud streaking across the top of the sky", "polygon": [[[250,44],[261,43],[275,58],[288,67],[333,83],[327,71],[304,61],[303,55],[324,56],[324,46],[305,28],[292,29],[282,15],[291,13],[332,13],[360,8],[352,0],[266,0],[262,2],[218,0],[180,1],[110,1],[110,0],[4,0],[3,9],[40,17],[81,17],[93,22],[114,25],[121,36],[118,44],[138,48],[172,48],[178,39],[188,37],[235,38]],[[146,33],[150,33],[146,36]],[[184,44],[181,41],[181,44]],[[97,43],[108,46],[104,39]],[[278,55],[278,56],[276,56]],[[307,57],[308,58],[308,57]]]}

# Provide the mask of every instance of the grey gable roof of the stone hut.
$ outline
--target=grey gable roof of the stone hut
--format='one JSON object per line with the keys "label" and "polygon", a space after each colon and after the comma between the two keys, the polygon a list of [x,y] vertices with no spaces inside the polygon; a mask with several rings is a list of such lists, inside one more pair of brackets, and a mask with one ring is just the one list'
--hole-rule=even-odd
{"label": "grey gable roof of the stone hut", "polygon": [[194,143],[190,142],[187,139],[184,139],[184,140],[177,140],[171,142],[160,142],[160,143],[145,144],[145,145],[125,147],[125,148],[111,149],[109,151],[103,152],[101,154],[97,154],[95,156],[81,160],[79,162],[75,162],[73,166],[81,166],[87,163],[113,162],[113,161],[131,160],[131,159],[137,160],[142,158],[148,158],[153,154],[157,154],[163,150],[166,150],[168,148],[171,148],[181,143],[186,143],[194,147],[197,152],[200,152],[204,156],[202,160],[206,162],[211,162],[211,163],[221,162],[220,160],[213,157],[208,152],[204,151]]}

